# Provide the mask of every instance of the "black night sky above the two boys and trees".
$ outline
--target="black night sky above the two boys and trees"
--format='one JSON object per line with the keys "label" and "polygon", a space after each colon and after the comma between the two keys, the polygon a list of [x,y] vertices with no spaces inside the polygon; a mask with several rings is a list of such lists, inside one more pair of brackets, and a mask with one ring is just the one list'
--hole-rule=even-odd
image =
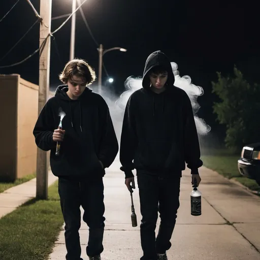
{"label": "black night sky above the two boys and trees", "polygon": [[[17,0],[1,0],[0,20]],[[81,0],[82,1],[82,0]],[[39,12],[40,1],[31,3]],[[256,5],[256,4],[255,4]],[[71,12],[71,0],[53,0],[52,17]],[[258,8],[237,1],[194,0],[88,0],[83,5],[87,22],[96,41],[105,49],[126,48],[127,52],[111,51],[104,55],[105,67],[118,93],[124,91],[124,80],[142,75],[147,56],[156,50],[165,52],[178,64],[181,76],[189,75],[205,94],[198,99],[199,116],[215,125],[211,81],[216,72],[232,74],[234,64],[249,82],[259,82],[259,19]],[[52,31],[66,18],[52,20]],[[26,0],[20,0],[0,22],[0,66],[20,61],[39,48],[39,24],[1,60],[7,51],[36,21]],[[60,84],[57,75],[69,60],[70,21],[51,39],[50,85]],[[58,52],[55,47],[58,49]],[[97,46],[77,12],[75,56],[86,59],[98,73]],[[0,69],[0,74],[18,73],[25,80],[38,84],[39,54],[19,66]],[[103,81],[106,74],[103,70]]]}

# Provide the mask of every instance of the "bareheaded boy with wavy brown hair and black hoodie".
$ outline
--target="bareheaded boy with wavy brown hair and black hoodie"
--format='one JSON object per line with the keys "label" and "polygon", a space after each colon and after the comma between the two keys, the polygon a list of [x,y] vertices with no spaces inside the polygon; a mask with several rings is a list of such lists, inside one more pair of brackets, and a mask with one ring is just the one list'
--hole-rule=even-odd
{"label": "bareheaded boy with wavy brown hair and black hoodie", "polygon": [[[95,72],[84,60],[69,61],[59,79],[55,96],[47,101],[36,122],[33,134],[37,146],[50,152],[52,173],[58,176],[58,192],[65,222],[67,260],[82,260],[79,229],[80,206],[89,227],[86,247],[90,260],[100,260],[104,234],[105,168],[118,152],[109,108],[101,95],[88,87]],[[59,112],[66,116],[58,129]],[[60,142],[60,154],[55,155]]]}

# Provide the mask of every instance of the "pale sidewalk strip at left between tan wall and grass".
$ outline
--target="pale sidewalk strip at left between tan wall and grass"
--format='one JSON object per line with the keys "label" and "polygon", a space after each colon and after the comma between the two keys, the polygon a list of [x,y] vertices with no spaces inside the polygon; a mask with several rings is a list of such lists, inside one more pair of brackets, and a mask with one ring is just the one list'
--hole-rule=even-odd
{"label": "pale sidewalk strip at left between tan wall and grass", "polygon": [[[57,180],[51,171],[48,174],[48,185]],[[36,178],[24,182],[0,193],[0,218],[9,214],[23,203],[36,197]]]}

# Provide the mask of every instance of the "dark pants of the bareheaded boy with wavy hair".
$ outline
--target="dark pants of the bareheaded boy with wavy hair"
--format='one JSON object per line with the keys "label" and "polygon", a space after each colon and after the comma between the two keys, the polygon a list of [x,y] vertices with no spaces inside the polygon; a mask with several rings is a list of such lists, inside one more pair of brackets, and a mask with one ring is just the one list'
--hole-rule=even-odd
{"label": "dark pants of the bareheaded boy with wavy hair", "polygon": [[84,209],[83,220],[89,227],[88,256],[103,252],[105,227],[105,205],[103,179],[69,180],[59,178],[60,206],[65,222],[67,260],[80,260],[81,247],[79,229],[81,225],[80,206]]}

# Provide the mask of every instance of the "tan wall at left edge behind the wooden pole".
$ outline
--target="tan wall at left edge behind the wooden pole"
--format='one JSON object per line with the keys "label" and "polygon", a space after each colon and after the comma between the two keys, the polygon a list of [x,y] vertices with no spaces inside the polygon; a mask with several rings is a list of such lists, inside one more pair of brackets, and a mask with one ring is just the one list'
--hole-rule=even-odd
{"label": "tan wall at left edge behind the wooden pole", "polygon": [[0,75],[0,180],[14,181],[36,172],[32,130],[38,118],[38,89],[20,75]]}

